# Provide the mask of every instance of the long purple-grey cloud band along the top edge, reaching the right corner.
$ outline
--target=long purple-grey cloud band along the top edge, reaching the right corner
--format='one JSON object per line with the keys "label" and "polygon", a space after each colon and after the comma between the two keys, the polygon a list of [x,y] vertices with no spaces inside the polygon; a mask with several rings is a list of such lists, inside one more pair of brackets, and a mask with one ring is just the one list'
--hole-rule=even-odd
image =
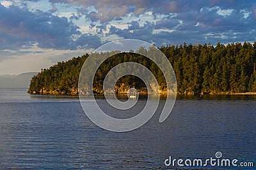
{"label": "long purple-grey cloud band along the top edge, reaching the right corner", "polygon": [[98,12],[92,11],[90,13],[92,20],[101,20],[102,22],[108,22],[113,19],[118,19],[131,10],[136,15],[140,15],[146,10],[154,9],[154,13],[182,13],[184,11],[199,11],[204,6],[211,8],[212,6],[221,6],[222,8],[233,8],[235,10],[243,8],[252,8],[254,1],[220,1],[220,0],[198,0],[198,1],[154,1],[154,0],[106,0],[106,1],[94,1],[94,0],[51,0],[51,3],[67,3],[67,4],[79,4],[84,7],[95,6]]}

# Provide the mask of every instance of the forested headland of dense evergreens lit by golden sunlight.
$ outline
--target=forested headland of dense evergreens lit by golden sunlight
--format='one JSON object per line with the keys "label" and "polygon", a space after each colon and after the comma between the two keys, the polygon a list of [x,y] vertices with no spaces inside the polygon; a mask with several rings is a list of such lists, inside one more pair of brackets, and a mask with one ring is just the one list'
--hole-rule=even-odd
{"label": "forested headland of dense evergreens lit by golden sunlight", "polygon": [[[147,49],[141,49],[147,53]],[[167,45],[159,48],[173,66],[178,94],[237,94],[256,92],[256,41],[254,43],[217,43],[204,45]],[[104,55],[104,54],[103,54]],[[78,94],[81,67],[88,57],[74,57],[58,62],[31,78],[30,94]],[[93,92],[102,94],[106,74],[122,62],[138,62],[154,74],[161,93],[166,82],[159,67],[143,55],[133,52],[119,53],[106,60],[93,79]],[[93,76],[93,75],[92,75]],[[130,87],[147,93],[145,84],[136,76],[127,75],[116,82],[116,92],[125,93]]]}

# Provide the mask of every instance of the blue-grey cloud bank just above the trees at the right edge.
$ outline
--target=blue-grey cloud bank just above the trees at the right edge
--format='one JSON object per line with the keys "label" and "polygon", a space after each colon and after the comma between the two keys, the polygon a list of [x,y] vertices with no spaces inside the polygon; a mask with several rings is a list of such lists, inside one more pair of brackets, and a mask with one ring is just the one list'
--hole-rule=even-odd
{"label": "blue-grey cloud bank just above the trees at the right edge", "polygon": [[[232,9],[230,15],[219,15],[219,8],[202,8],[200,11],[186,11],[177,16],[183,24],[172,33],[174,39],[196,43],[229,43],[233,41],[255,41],[255,20],[252,13],[244,17],[243,10]],[[220,11],[219,11],[220,12]],[[249,12],[249,10],[248,10]],[[251,12],[251,11],[250,11]],[[196,26],[197,25],[197,26]]]}

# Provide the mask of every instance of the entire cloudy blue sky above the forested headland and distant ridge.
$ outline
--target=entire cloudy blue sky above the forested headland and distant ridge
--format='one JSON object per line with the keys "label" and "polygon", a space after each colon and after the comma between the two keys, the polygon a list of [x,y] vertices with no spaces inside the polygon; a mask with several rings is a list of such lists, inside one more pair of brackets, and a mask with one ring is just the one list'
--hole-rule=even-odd
{"label": "entire cloudy blue sky above the forested headland and distant ridge", "polygon": [[256,40],[256,1],[0,0],[0,74],[38,72],[116,39]]}

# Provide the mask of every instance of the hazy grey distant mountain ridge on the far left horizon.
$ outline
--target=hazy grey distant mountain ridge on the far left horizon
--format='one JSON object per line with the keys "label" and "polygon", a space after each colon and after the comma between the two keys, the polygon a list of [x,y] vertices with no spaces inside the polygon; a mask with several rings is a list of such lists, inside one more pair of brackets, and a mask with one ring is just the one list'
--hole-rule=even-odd
{"label": "hazy grey distant mountain ridge on the far left horizon", "polygon": [[37,72],[22,73],[19,75],[0,75],[0,88],[28,88],[31,77]]}

